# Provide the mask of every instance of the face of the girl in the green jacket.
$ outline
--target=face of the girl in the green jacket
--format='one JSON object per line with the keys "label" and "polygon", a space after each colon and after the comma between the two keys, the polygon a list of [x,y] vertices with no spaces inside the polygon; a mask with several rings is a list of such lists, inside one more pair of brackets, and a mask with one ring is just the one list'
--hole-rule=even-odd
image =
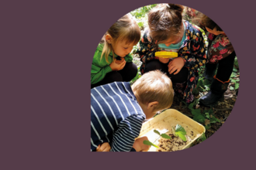
{"label": "face of the girl in the green jacket", "polygon": [[136,44],[133,44],[133,43],[130,43],[130,44],[126,44],[126,41],[123,40],[123,41],[118,41],[116,42],[116,44],[113,46],[112,45],[112,48],[114,50],[114,53],[117,55],[117,56],[120,56],[120,57],[125,57],[127,56],[128,54],[130,54],[130,52],[132,51],[133,49],[133,46],[135,46]]}

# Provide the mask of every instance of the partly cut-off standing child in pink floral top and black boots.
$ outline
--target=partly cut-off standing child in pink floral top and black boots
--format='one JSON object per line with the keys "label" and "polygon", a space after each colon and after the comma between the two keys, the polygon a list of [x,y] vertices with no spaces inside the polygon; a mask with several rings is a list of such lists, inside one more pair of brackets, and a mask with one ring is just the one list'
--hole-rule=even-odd
{"label": "partly cut-off standing child in pink floral top and black boots", "polygon": [[217,104],[219,100],[223,100],[223,93],[225,93],[230,83],[236,53],[225,32],[208,16],[187,7],[185,18],[204,29],[208,37],[208,61],[204,76],[212,84],[209,92],[206,96],[201,97],[199,102],[211,107]]}

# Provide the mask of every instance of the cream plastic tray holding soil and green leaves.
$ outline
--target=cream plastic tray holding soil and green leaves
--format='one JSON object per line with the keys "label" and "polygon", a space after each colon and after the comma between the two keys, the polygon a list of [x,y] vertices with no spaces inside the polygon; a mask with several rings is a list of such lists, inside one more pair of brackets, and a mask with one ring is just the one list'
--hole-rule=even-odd
{"label": "cream plastic tray holding soil and green leaves", "polygon": [[[182,114],[178,110],[168,109],[164,110],[164,112],[157,115],[156,117],[153,117],[150,120],[144,122],[138,138],[147,136],[149,141],[154,143],[154,145],[158,145],[158,139],[160,136],[154,133],[154,129],[159,131],[161,134],[166,132],[172,133],[171,127],[175,128],[176,124],[182,125],[182,127],[185,128],[185,131],[187,132],[187,142],[185,146],[182,147],[182,149],[189,148],[193,141],[198,139],[203,133],[206,132],[206,128],[204,128],[202,124],[199,124],[198,122],[192,120],[190,117],[185,116],[185,114]],[[151,146],[149,151],[157,151],[157,148]]]}

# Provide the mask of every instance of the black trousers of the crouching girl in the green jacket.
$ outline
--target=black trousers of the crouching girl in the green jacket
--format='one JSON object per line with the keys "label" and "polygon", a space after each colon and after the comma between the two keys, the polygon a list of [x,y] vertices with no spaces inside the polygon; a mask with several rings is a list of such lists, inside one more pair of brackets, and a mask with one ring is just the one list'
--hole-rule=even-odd
{"label": "black trousers of the crouching girl in the green jacket", "polygon": [[91,84],[91,89],[94,87],[99,87],[103,84],[113,83],[114,81],[130,81],[137,75],[137,66],[136,64],[130,62],[126,63],[126,66],[123,67],[123,70],[112,71],[106,74],[103,80],[98,83]]}

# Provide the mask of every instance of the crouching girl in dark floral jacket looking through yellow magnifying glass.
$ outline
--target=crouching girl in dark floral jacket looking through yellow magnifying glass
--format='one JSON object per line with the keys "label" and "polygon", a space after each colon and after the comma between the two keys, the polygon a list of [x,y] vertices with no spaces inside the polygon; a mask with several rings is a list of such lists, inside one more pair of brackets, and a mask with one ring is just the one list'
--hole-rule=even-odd
{"label": "crouching girl in dark floral jacket looking through yellow magnifying glass", "polygon": [[[148,13],[148,25],[137,54],[143,62],[140,72],[161,70],[171,78],[175,93],[186,103],[194,100],[192,90],[199,79],[198,68],[206,63],[202,29],[182,20],[182,5],[161,4]],[[158,58],[157,51],[177,52],[175,59]]]}

